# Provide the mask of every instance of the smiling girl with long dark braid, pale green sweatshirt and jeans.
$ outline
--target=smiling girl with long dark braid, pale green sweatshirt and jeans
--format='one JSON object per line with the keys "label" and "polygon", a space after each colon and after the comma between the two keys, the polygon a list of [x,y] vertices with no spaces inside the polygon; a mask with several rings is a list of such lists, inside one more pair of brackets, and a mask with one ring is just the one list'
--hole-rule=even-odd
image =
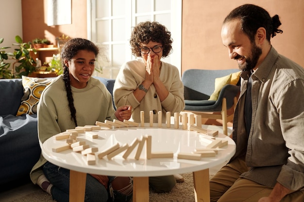
{"label": "smiling girl with long dark braid, pale green sweatshirt and jeans", "polygon": [[[37,108],[40,144],[78,125],[130,119],[131,106],[121,106],[115,111],[111,94],[98,79],[91,77],[98,54],[99,48],[82,38],[71,39],[62,48],[64,74],[45,88]],[[53,165],[41,155],[31,171],[31,180],[54,200],[68,202],[69,170]],[[85,202],[127,202],[132,192],[129,177],[87,174]]]}

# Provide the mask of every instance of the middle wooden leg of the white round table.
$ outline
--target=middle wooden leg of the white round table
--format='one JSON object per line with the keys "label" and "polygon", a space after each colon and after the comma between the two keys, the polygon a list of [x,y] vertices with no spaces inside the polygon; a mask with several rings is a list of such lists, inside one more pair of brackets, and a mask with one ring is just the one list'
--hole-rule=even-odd
{"label": "middle wooden leg of the white round table", "polygon": [[133,202],[149,202],[149,177],[133,177]]}

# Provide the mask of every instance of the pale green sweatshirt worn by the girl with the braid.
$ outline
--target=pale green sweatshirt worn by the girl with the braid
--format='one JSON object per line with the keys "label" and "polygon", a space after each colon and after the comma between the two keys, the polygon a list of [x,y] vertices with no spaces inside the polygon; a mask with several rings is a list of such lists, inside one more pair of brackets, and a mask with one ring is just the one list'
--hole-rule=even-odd
{"label": "pale green sweatshirt worn by the girl with the braid", "polygon": [[[112,95],[105,85],[96,78],[90,78],[87,86],[77,89],[71,86],[76,109],[78,126],[95,125],[96,121],[113,121],[115,110]],[[42,143],[53,135],[75,128],[68,108],[67,92],[63,76],[58,76],[45,88],[41,94],[37,108],[38,138]],[[38,177],[43,173],[41,166],[47,160],[41,155],[31,171],[31,180],[36,184]]]}

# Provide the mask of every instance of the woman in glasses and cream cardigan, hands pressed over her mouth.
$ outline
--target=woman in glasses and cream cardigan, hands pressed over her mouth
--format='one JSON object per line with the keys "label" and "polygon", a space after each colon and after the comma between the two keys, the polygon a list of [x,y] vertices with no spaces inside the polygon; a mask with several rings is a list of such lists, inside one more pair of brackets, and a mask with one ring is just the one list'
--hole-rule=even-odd
{"label": "woman in glasses and cream cardigan, hands pressed over her mouth", "polygon": [[[171,115],[185,108],[184,85],[178,69],[161,61],[172,50],[171,33],[158,22],[141,22],[131,34],[132,54],[138,57],[122,65],[114,85],[114,102],[117,107],[132,106],[131,120],[140,122],[140,111],[144,111],[145,123],[158,123],[158,111],[162,111],[162,122],[166,113]],[[183,181],[182,176],[176,175]],[[175,186],[173,175],[150,177],[149,184],[157,192],[170,191]]]}

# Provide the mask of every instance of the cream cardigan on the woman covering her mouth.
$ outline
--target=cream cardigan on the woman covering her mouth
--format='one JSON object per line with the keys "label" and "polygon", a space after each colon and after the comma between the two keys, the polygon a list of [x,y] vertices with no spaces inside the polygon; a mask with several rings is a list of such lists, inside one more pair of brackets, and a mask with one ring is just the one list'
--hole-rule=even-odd
{"label": "cream cardigan on the woman covering her mouth", "polygon": [[162,111],[162,122],[166,123],[166,112],[180,112],[185,108],[184,85],[178,69],[162,62],[160,80],[169,91],[168,97],[161,102],[152,84],[144,98],[138,102],[133,92],[146,78],[146,66],[142,58],[126,62],[120,69],[114,85],[114,102],[116,107],[131,105],[133,108],[130,121],[140,123],[140,111],[145,113],[145,123],[150,122],[150,111],[154,111],[153,123],[158,122],[158,111]]}

